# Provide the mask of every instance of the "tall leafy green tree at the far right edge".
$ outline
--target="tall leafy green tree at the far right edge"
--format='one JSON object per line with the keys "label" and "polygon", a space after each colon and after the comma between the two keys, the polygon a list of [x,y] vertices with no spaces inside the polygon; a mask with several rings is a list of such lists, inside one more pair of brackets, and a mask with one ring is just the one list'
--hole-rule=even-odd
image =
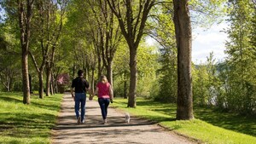
{"label": "tall leafy green tree at the far right edge", "polygon": [[230,28],[226,31],[230,37],[226,43],[226,54],[229,55],[226,107],[241,113],[253,113],[256,107],[256,59],[250,33],[255,29],[255,9],[252,1],[231,1],[230,6]]}

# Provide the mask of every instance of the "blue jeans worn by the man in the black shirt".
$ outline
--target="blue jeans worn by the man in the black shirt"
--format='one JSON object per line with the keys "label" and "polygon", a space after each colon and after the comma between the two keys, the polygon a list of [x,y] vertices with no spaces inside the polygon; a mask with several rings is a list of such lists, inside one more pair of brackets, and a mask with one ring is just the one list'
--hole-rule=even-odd
{"label": "blue jeans worn by the man in the black shirt", "polygon": [[[84,120],[85,101],[86,101],[85,93],[75,93],[75,112],[76,112],[77,118],[81,116],[81,122]],[[81,103],[81,115],[79,115],[80,103]]]}

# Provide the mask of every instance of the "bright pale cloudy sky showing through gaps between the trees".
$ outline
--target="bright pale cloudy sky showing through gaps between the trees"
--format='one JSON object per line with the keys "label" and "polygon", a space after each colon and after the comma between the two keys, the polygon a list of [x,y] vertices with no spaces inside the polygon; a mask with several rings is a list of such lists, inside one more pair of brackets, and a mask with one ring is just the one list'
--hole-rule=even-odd
{"label": "bright pale cloudy sky showing through gaps between the trees", "polygon": [[[226,55],[224,54],[225,42],[228,40],[227,34],[221,32],[228,25],[223,22],[220,24],[214,24],[210,28],[199,27],[193,29],[193,41],[192,41],[192,61],[195,64],[204,63],[207,61],[207,57],[213,52],[213,59],[215,62],[224,60]],[[156,43],[153,38],[148,37],[146,39],[148,45]]]}

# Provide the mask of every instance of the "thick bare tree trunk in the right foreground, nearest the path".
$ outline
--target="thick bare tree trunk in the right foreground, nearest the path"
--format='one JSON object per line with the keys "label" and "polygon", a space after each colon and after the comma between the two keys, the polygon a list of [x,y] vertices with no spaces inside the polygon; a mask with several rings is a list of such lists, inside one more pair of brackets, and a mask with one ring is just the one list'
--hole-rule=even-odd
{"label": "thick bare tree trunk in the right foreground, nearest the path", "polygon": [[188,0],[174,0],[174,25],[177,42],[177,120],[194,118],[191,76],[191,22]]}

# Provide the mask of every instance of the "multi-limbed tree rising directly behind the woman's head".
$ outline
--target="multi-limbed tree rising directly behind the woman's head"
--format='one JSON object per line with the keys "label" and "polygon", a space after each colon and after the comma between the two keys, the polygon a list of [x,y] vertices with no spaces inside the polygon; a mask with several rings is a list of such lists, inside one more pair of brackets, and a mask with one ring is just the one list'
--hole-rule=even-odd
{"label": "multi-limbed tree rising directly behind the woman's head", "polygon": [[87,2],[90,4],[97,23],[97,27],[94,26],[94,28],[99,30],[100,56],[102,57],[103,66],[107,70],[109,83],[113,84],[113,57],[121,39],[118,21],[114,19],[113,12],[109,8],[107,1],[99,0],[93,3],[91,0],[87,0]]}

